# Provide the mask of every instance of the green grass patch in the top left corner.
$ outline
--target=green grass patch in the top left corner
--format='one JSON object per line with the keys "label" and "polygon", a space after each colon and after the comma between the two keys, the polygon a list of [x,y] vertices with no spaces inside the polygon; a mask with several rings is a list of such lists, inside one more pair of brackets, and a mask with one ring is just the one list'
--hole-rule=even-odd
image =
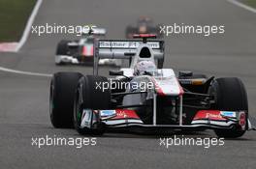
{"label": "green grass patch in the top left corner", "polygon": [[18,42],[36,0],[0,0],[0,42]]}

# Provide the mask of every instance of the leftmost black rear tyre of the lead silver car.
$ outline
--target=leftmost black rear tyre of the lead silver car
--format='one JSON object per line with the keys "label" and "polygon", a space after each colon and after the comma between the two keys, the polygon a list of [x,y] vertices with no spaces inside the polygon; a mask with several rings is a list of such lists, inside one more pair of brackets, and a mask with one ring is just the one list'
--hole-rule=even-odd
{"label": "leftmost black rear tyre of the lead silver car", "polygon": [[49,116],[53,127],[74,127],[73,103],[79,72],[57,72],[50,82]]}

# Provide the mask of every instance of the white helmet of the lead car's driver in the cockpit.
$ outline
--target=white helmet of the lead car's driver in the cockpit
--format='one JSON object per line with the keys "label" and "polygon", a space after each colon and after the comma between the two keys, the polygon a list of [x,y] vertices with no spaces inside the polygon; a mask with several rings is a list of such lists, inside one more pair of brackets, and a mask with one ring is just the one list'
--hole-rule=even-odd
{"label": "white helmet of the lead car's driver in the cockpit", "polygon": [[134,67],[134,75],[154,75],[155,72],[157,69],[152,61],[141,61]]}

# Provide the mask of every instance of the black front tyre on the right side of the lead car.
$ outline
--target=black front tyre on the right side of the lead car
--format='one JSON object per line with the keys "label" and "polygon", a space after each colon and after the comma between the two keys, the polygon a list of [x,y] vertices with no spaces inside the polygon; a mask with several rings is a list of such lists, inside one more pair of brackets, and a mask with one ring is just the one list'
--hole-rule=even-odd
{"label": "black front tyre on the right side of the lead car", "polygon": [[[218,78],[213,81],[209,88],[209,94],[215,97],[215,103],[212,108],[226,111],[246,112],[245,122],[248,117],[247,94],[241,80],[236,77]],[[231,129],[215,129],[218,137],[237,138],[245,133],[240,126]]]}

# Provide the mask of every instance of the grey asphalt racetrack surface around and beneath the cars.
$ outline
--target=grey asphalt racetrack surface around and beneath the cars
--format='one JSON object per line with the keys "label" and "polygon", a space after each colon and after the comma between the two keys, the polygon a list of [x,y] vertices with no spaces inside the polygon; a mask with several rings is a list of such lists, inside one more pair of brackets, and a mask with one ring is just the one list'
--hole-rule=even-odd
{"label": "grey asphalt racetrack surface around and beneath the cars", "polygon": [[[249,113],[256,117],[256,14],[225,0],[45,0],[33,25],[94,23],[108,38],[124,37],[124,29],[140,15],[159,23],[224,24],[224,36],[166,38],[165,68],[194,70],[209,75],[238,76],[244,82]],[[18,53],[0,53],[0,67],[53,73],[90,67],[56,67],[55,46],[71,36],[30,35]],[[103,68],[106,73],[110,68]],[[160,135],[106,133],[96,146],[31,146],[31,137],[80,137],[73,129],[55,129],[48,116],[48,77],[0,71],[0,168],[255,168],[256,135],[225,140],[221,147],[159,146]],[[181,133],[182,134],[182,133]],[[179,133],[180,135],[180,133]],[[172,135],[169,135],[170,137]],[[215,137],[212,131],[186,137]]]}

